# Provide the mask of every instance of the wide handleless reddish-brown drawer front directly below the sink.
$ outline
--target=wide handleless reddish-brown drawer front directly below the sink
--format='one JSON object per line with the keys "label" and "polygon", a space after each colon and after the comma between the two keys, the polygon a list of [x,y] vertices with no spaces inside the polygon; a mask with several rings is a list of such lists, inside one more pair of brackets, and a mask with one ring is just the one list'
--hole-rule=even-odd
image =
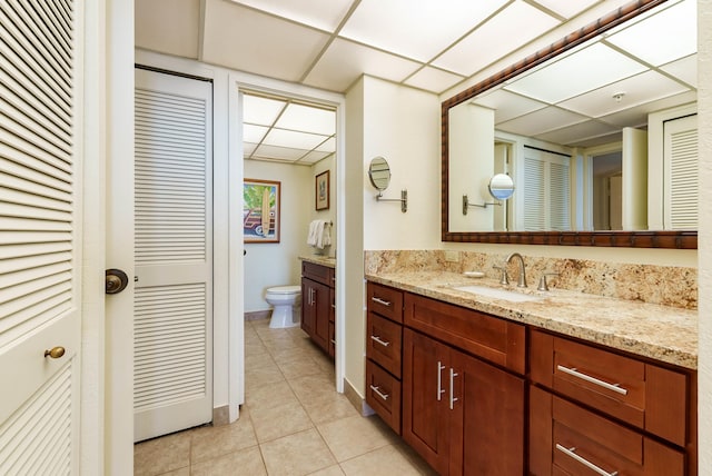
{"label": "wide handleless reddish-brown drawer front directly below the sink", "polygon": [[524,326],[472,309],[406,294],[404,323],[473,355],[525,373]]}

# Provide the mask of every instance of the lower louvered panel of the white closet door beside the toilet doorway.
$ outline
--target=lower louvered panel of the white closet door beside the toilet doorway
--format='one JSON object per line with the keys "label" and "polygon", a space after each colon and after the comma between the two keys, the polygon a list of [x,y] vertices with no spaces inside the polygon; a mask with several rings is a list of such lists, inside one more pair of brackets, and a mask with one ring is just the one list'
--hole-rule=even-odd
{"label": "lower louvered panel of the white closet door beside the toilet doorway", "polygon": [[137,410],[206,393],[206,299],[202,284],[136,290]]}

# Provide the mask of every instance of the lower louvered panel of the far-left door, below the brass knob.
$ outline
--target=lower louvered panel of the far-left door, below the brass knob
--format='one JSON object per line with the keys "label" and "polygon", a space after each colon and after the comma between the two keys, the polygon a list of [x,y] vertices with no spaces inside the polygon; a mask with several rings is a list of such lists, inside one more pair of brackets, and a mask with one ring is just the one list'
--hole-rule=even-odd
{"label": "lower louvered panel of the far-left door, below the brass knob", "polygon": [[0,427],[0,474],[70,474],[72,370],[65,366]]}

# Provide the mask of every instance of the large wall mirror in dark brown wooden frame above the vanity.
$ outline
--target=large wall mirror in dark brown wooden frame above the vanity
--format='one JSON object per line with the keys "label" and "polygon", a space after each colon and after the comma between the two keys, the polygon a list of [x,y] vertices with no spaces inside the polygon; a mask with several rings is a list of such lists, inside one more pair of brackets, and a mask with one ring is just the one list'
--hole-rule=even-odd
{"label": "large wall mirror in dark brown wooden frame above the vanity", "polygon": [[[443,102],[443,241],[696,248],[696,1],[641,0]],[[516,186],[486,201],[493,176]]]}

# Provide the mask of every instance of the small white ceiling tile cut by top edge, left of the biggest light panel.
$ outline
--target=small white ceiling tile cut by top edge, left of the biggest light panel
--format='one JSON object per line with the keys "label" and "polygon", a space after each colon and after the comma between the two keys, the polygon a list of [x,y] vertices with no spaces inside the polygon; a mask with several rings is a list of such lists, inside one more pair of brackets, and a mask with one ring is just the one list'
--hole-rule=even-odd
{"label": "small white ceiling tile cut by top edge, left of the biggest light panel", "polygon": [[328,31],[334,31],[338,27],[352,3],[352,0],[233,1]]}

